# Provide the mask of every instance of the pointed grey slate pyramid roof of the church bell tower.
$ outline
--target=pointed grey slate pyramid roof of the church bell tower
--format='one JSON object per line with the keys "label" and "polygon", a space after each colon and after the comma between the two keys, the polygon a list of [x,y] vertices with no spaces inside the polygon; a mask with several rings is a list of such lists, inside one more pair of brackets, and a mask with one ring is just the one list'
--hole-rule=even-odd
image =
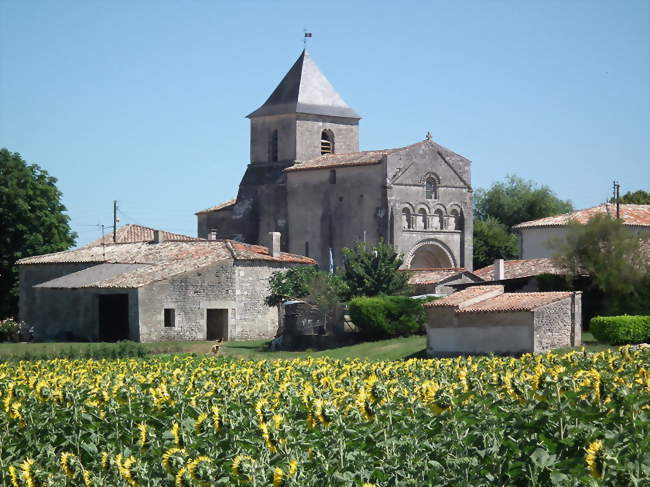
{"label": "pointed grey slate pyramid roof of the church bell tower", "polygon": [[285,113],[309,113],[360,119],[321,73],[307,50],[284,76],[264,105],[248,118]]}

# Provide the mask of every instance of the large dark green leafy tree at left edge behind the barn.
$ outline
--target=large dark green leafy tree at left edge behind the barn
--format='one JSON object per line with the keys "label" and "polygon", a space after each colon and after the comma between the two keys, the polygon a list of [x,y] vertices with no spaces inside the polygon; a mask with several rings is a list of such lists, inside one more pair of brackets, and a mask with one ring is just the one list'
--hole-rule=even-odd
{"label": "large dark green leafy tree at left edge behind the barn", "polygon": [[0,149],[0,318],[18,312],[18,259],[74,245],[65,211],[56,178]]}

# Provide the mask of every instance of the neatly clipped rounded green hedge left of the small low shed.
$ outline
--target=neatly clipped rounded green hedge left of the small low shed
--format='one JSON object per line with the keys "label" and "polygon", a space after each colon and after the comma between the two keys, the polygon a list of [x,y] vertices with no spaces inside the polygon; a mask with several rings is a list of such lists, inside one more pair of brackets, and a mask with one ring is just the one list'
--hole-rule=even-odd
{"label": "neatly clipped rounded green hedge left of the small low shed", "polygon": [[422,303],[405,296],[360,297],[350,301],[350,317],[367,338],[413,335],[423,330],[425,316]]}

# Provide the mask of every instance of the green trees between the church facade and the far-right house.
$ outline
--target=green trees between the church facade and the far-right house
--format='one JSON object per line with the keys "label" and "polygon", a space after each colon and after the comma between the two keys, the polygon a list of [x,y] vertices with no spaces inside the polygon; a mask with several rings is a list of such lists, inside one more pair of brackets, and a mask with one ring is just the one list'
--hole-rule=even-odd
{"label": "green trees between the church facade and the far-right house", "polygon": [[519,255],[518,237],[512,227],[518,223],[559,215],[573,210],[570,201],[560,200],[548,186],[511,175],[505,182],[474,193],[474,268],[494,259]]}

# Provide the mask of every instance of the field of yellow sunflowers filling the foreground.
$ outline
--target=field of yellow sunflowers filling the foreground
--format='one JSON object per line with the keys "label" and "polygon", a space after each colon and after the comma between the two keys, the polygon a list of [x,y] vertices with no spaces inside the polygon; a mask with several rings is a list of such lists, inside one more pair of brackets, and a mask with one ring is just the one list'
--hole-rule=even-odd
{"label": "field of yellow sunflowers filling the foreground", "polygon": [[650,353],[0,364],[0,480],[650,486]]}

